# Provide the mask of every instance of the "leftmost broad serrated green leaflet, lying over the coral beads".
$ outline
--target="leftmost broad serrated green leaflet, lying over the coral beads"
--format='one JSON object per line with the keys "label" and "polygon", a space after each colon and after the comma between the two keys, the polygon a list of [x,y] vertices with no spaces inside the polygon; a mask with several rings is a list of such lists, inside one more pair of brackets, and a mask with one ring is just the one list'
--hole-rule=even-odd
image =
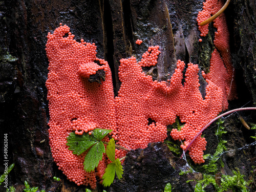
{"label": "leftmost broad serrated green leaflet, lying over the coral beads", "polygon": [[77,135],[72,132],[68,136],[66,145],[70,146],[69,150],[73,151],[73,154],[81,155],[97,142],[98,141],[89,134]]}

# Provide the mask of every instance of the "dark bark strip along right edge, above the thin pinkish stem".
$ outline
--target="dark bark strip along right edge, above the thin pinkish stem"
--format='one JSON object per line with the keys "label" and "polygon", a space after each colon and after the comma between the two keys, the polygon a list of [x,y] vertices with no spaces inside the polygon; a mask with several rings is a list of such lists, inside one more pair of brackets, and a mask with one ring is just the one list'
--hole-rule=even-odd
{"label": "dark bark strip along right edge, above the thin pinkish stem", "polygon": [[[256,2],[234,1],[230,6],[228,17],[232,20],[229,26],[232,32],[230,42],[233,47],[233,65],[241,79],[237,81],[238,87],[246,84],[248,92],[240,97],[251,104],[256,103]],[[231,46],[231,47],[232,47]],[[241,86],[242,87],[242,86]],[[242,88],[241,88],[242,89]],[[241,91],[241,90],[238,90]]]}

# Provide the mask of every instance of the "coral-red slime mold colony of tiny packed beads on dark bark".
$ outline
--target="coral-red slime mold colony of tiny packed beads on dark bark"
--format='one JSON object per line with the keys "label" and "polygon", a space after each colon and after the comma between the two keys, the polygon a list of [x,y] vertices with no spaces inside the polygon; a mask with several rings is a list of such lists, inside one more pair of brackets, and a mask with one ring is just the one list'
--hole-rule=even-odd
{"label": "coral-red slime mold colony of tiny packed beads on dark bark", "polygon": [[[206,1],[198,14],[198,24],[221,7],[220,1]],[[159,46],[149,47],[140,61],[133,56],[120,60],[118,75],[121,87],[118,96],[114,97],[110,67],[107,61],[96,57],[95,44],[83,39],[77,42],[66,25],[60,24],[53,34],[48,33],[49,73],[46,86],[50,146],[54,161],[70,181],[96,188],[96,176],[101,179],[110,162],[103,155],[96,170],[84,171],[83,160],[87,152],[77,156],[66,145],[66,138],[72,131],[81,135],[96,127],[111,129],[117,144],[130,149],[145,148],[150,142],[164,141],[167,125],[174,123],[178,116],[185,124],[180,131],[173,129],[170,135],[175,140],[183,140],[181,147],[185,150],[204,125],[228,108],[227,100],[236,98],[236,89],[232,83],[229,34],[223,14],[215,19],[214,27],[217,28],[216,49],[210,59],[210,72],[205,74],[202,71],[207,82],[205,98],[199,91],[198,65],[187,64],[184,84],[185,63],[181,60],[177,61],[169,83],[153,81],[152,76],[142,72],[142,67],[156,65]],[[206,36],[208,25],[200,26],[199,30],[201,36]],[[64,37],[65,34],[68,36]],[[136,43],[141,44],[141,40]],[[89,82],[89,77],[98,70],[104,70],[105,81],[101,84]],[[154,122],[148,123],[148,119]],[[198,137],[188,149],[195,163],[204,162],[205,147],[205,138]],[[123,157],[125,153],[117,150],[116,157]]]}

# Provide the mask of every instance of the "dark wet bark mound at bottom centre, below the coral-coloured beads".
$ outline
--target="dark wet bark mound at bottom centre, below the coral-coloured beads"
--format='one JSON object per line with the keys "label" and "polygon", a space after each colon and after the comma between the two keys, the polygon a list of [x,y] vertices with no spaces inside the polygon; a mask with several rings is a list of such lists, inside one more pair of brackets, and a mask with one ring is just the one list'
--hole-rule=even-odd
{"label": "dark wet bark mound at bottom centre, below the coral-coloured beads", "polygon": [[131,151],[124,164],[123,179],[115,180],[109,191],[163,191],[165,185],[170,183],[174,191],[188,192],[194,190],[190,184],[185,184],[187,177],[190,180],[196,176],[202,178],[200,173],[180,176],[180,168],[189,169],[186,161],[174,157],[162,142],[150,143],[144,150]]}

